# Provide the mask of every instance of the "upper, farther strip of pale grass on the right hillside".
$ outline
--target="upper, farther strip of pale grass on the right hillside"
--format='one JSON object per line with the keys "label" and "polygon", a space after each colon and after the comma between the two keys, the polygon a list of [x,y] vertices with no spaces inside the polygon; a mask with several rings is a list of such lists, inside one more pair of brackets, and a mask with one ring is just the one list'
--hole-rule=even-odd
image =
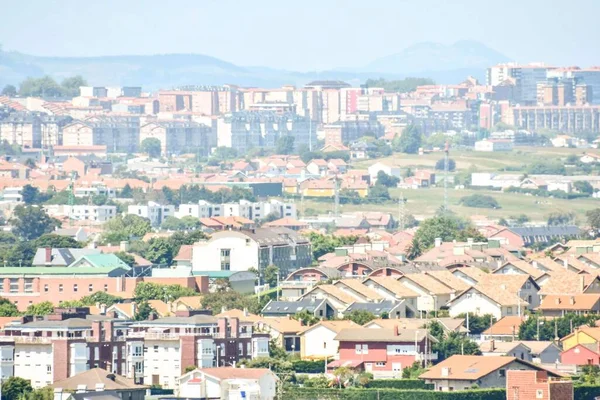
{"label": "upper, farther strip of pale grass on the right hillside", "polygon": [[[580,149],[566,149],[554,147],[517,147],[507,153],[484,153],[468,150],[450,150],[450,158],[456,162],[457,171],[476,168],[478,171],[502,171],[504,168],[525,167],[538,160],[566,158],[570,154],[581,154]],[[435,163],[443,158],[441,152],[429,153],[422,156],[416,154],[400,154],[381,158],[378,160],[357,161],[352,164],[354,168],[367,168],[376,161],[383,161],[391,165],[411,168],[433,168]]]}

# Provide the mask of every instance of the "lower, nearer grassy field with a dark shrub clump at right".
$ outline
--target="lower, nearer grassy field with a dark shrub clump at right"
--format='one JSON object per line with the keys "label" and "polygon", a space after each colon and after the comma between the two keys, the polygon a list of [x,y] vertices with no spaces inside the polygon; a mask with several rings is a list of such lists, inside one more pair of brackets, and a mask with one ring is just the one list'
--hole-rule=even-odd
{"label": "lower, nearer grassy field with a dark shrub clump at right", "polygon": [[[392,197],[397,198],[402,192],[407,199],[406,212],[414,215],[417,219],[430,217],[435,214],[436,210],[443,204],[444,189],[430,188],[419,190],[400,190],[391,189]],[[500,209],[493,210],[487,208],[471,208],[459,205],[462,197],[471,194],[486,194],[494,197],[500,204]],[[575,212],[580,221],[585,220],[585,212],[594,208],[600,207],[600,199],[577,199],[577,200],[562,200],[526,196],[519,193],[501,193],[486,190],[470,190],[470,189],[448,189],[448,203],[450,209],[456,214],[468,218],[472,215],[485,215],[490,218],[508,217],[511,215],[526,214],[533,221],[546,221],[548,214],[552,212]],[[315,200],[304,200],[304,209],[313,209],[319,213],[333,212],[333,199],[328,202]],[[300,210],[300,209],[299,209]],[[351,211],[387,211],[394,215],[398,215],[398,204],[388,202],[386,204],[363,204],[340,205],[341,212]]]}

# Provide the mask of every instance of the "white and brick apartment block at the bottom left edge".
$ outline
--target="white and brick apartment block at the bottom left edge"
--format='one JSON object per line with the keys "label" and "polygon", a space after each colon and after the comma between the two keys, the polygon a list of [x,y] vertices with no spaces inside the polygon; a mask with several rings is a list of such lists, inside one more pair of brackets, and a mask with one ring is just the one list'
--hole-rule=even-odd
{"label": "white and brick apartment block at the bottom left edge", "polygon": [[0,336],[2,380],[18,376],[42,388],[90,368],[124,375],[127,323],[89,316],[89,308],[57,308],[43,320],[15,318]]}

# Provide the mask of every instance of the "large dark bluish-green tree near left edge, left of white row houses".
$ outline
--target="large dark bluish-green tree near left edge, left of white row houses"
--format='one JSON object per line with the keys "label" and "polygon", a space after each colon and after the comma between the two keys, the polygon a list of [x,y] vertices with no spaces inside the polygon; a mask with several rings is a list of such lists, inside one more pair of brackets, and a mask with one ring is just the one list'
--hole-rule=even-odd
{"label": "large dark bluish-green tree near left edge, left of white row houses", "polygon": [[51,218],[43,208],[37,206],[16,206],[9,222],[13,233],[24,240],[37,239],[60,226],[57,219]]}

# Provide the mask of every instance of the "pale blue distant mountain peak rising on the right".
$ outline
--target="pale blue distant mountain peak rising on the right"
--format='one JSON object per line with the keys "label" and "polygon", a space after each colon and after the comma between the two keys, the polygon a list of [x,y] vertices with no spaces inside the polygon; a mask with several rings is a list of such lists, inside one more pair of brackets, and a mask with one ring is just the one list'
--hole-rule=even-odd
{"label": "pale blue distant mountain peak rising on the right", "polygon": [[420,71],[451,70],[479,71],[482,74],[485,68],[506,61],[509,61],[507,56],[476,41],[463,40],[452,45],[424,42],[379,58],[363,70],[418,76],[422,76]]}

